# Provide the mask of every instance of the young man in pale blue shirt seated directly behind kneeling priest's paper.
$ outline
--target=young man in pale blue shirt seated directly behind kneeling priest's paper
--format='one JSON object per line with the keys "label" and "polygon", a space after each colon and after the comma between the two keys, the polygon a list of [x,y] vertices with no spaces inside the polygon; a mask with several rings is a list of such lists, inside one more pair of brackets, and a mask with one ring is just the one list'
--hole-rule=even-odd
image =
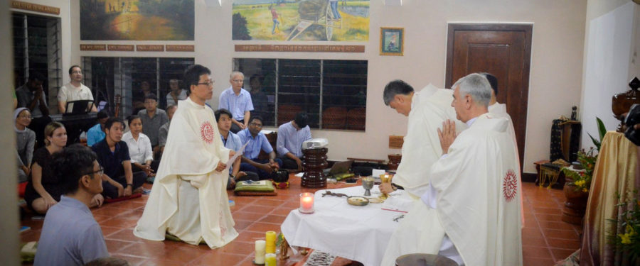
{"label": "young man in pale blue shirt seated directly behind kneeling priest's paper", "polygon": [[[215,111],[215,121],[218,121],[218,131],[220,131],[220,138],[225,145],[225,148],[238,152],[242,148],[242,142],[240,137],[231,132],[231,112],[227,109],[218,109]],[[227,189],[235,188],[235,183],[243,180],[260,180],[255,172],[243,172],[240,171],[240,160],[238,157],[233,162],[233,166],[229,169],[229,181],[227,182]],[[228,162],[232,163],[232,162]]]}

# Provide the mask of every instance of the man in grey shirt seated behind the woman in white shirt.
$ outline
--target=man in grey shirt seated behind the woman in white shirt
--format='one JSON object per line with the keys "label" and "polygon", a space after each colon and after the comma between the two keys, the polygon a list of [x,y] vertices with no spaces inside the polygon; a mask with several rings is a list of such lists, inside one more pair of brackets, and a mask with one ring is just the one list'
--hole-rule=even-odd
{"label": "man in grey shirt seated behind the woman in white shirt", "polygon": [[166,116],[166,112],[158,108],[156,94],[150,93],[144,96],[144,110],[140,110],[138,116],[140,116],[142,124],[144,124],[142,133],[149,137],[151,148],[153,148],[154,155],[156,155],[160,151],[160,127],[169,122],[169,116]]}

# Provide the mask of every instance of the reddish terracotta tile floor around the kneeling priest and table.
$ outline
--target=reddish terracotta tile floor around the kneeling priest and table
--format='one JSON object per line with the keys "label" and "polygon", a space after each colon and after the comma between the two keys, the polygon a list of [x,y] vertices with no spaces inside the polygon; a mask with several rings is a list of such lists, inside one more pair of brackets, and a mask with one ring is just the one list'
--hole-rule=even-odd
{"label": "reddish terracotta tile floor around the kneeling priest and table", "polygon": [[[142,240],[132,234],[136,221],[142,216],[147,196],[106,204],[93,209],[96,220],[102,226],[107,248],[111,255],[122,257],[131,265],[252,265],[253,242],[265,238],[265,231],[279,231],[279,225],[289,211],[297,207],[297,196],[301,192],[316,189],[301,189],[299,177],[290,179],[292,187],[278,190],[277,196],[238,197],[231,207],[235,228],[240,235],[223,248],[210,250],[206,245],[188,245],[173,241],[156,242]],[[151,186],[145,184],[146,187]],[[329,189],[347,187],[347,184],[329,184]],[[544,189],[532,183],[523,184],[524,213],[523,228],[524,265],[553,265],[580,245],[580,228],[560,221],[564,195],[561,190]],[[38,240],[42,221],[27,217],[21,224],[31,230],[21,233],[22,241]],[[304,257],[292,256],[279,265],[302,265]]]}

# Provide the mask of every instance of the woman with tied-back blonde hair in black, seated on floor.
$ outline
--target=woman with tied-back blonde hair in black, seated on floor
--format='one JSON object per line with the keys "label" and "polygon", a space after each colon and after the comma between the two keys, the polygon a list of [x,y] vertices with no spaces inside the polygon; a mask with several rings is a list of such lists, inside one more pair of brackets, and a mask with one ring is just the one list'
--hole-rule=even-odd
{"label": "woman with tied-back blonde hair in black, seated on floor", "polygon": [[[63,150],[67,145],[67,131],[63,124],[52,122],[46,126],[44,135],[45,146],[33,153],[31,180],[24,192],[27,205],[38,214],[46,214],[51,206],[60,201],[60,195],[65,190],[60,180],[50,172],[48,163],[53,153]],[[93,197],[90,207],[100,206],[102,201],[102,195],[97,194]]]}

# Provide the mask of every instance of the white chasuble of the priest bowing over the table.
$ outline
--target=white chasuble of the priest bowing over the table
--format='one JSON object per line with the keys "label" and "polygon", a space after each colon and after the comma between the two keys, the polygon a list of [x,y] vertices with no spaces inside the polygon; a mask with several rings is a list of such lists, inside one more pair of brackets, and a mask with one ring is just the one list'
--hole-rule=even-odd
{"label": "white chasuble of the priest bowing over the table", "polygon": [[452,100],[453,90],[437,89],[432,84],[413,94],[402,160],[393,176],[393,183],[404,187],[413,199],[420,198],[425,192],[431,165],[442,155],[437,132],[442,128],[442,122],[455,121],[457,133],[466,128],[456,119]]}

